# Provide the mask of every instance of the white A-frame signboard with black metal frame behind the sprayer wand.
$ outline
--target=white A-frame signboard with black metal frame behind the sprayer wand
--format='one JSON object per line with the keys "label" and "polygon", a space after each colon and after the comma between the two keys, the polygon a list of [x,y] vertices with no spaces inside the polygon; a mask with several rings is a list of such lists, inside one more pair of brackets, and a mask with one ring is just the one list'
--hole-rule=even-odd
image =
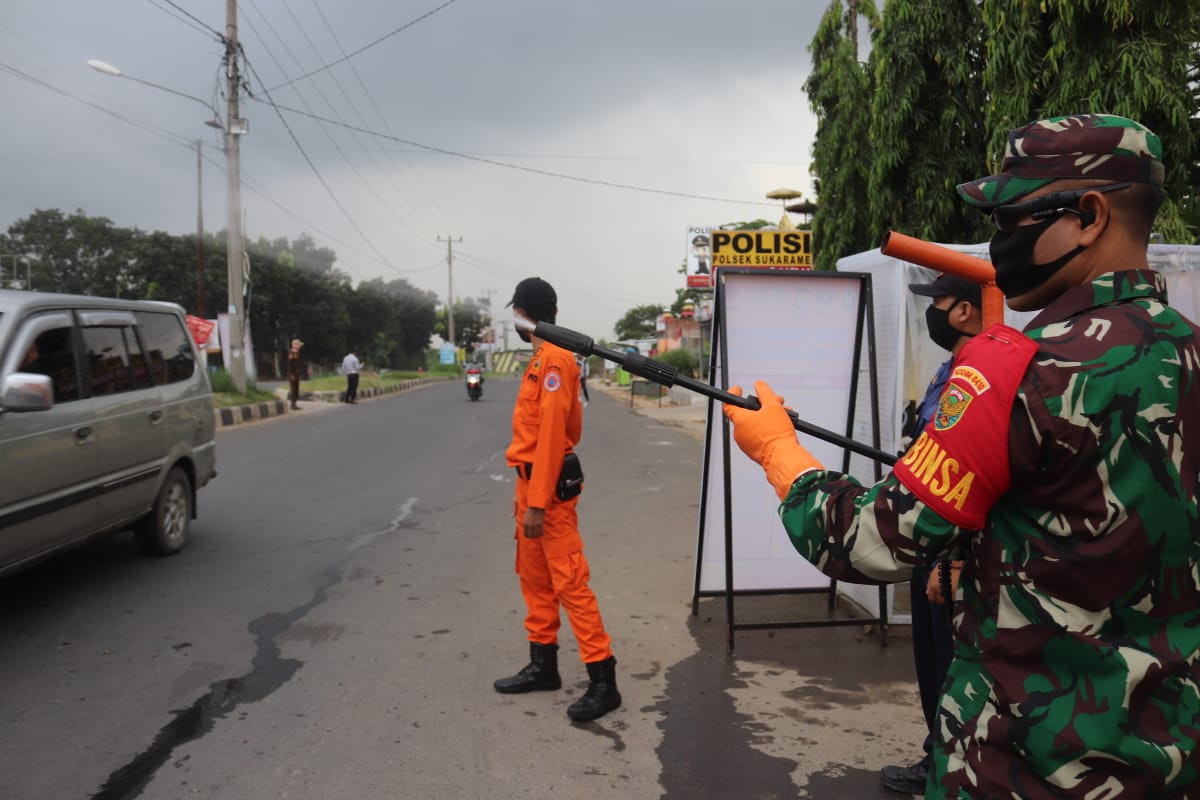
{"label": "white A-frame signboard with black metal frame behind the sprayer wand", "polygon": [[[794,404],[805,419],[812,413],[828,416],[845,409],[845,416],[832,422],[821,419],[810,421],[832,431],[844,429],[850,438],[856,421],[856,402],[864,393],[859,389],[859,375],[865,356],[869,380],[865,395],[872,420],[872,441],[878,447],[871,276],[794,269],[721,267],[716,271],[715,284],[709,383],[715,386],[720,379],[722,387],[728,387],[731,381],[740,383],[749,392],[752,389],[748,384],[755,378],[766,379],[776,390],[781,387],[776,383],[791,380],[792,385],[782,386],[790,404]],[[775,317],[772,318],[772,314]],[[750,350],[746,349],[748,341],[752,341]],[[810,348],[805,349],[805,342]],[[810,361],[826,359],[827,362],[806,363],[806,368],[802,369],[796,363],[800,356],[811,356]],[[746,361],[755,363],[748,365]],[[772,366],[764,367],[763,363]],[[805,414],[805,409],[809,414]],[[719,404],[709,399],[692,614],[698,613],[701,596],[724,596],[730,651],[733,650],[733,636],[738,630],[870,622],[880,625],[881,644],[886,644],[886,587],[877,587],[876,616],[833,618],[832,612],[838,600],[836,582],[820,573],[794,552],[775,512],[778,500],[774,491],[763,479],[761,468],[739,450],[731,447],[730,443],[728,421],[721,414]],[[850,473],[848,450],[809,439],[805,440],[805,446],[822,463],[833,465],[840,462],[841,471]],[[882,468],[875,464],[874,480],[880,477]],[[733,491],[734,482],[739,485],[737,492]],[[737,507],[734,497],[739,500]],[[767,517],[770,518],[769,522]],[[714,577],[712,552],[706,553],[706,543],[710,546],[712,542],[706,542],[706,539],[718,535],[724,540],[722,561],[719,565],[722,570],[720,576]],[[767,549],[770,552],[764,553]],[[736,597],[785,594],[824,594],[830,615],[826,619],[737,621]]]}

